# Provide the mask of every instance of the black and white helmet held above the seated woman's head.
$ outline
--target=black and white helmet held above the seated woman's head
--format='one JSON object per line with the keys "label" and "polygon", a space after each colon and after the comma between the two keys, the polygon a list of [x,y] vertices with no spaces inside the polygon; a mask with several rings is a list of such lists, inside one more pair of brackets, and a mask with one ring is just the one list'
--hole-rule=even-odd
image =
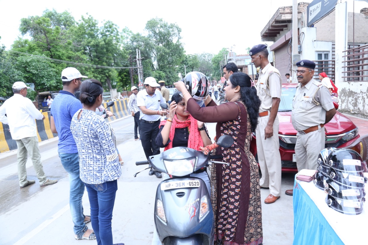
{"label": "black and white helmet held above the seated woman's head", "polygon": [[192,71],[185,75],[185,78],[182,81],[193,96],[193,99],[207,99],[209,85],[205,74],[199,71]]}

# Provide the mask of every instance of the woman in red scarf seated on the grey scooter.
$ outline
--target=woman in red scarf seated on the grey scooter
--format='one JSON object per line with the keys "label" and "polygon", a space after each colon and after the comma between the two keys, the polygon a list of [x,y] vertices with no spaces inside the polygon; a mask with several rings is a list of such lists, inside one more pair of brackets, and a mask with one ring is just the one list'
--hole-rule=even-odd
{"label": "woman in red scarf seated on the grey scooter", "polygon": [[[204,123],[190,115],[183,97],[178,92],[171,97],[169,116],[167,120],[161,121],[159,127],[160,132],[156,137],[156,144],[160,148],[165,148],[164,150],[177,146],[199,150],[199,146],[204,147],[212,144]],[[197,170],[190,176],[205,181],[208,193],[211,193],[206,168]]]}

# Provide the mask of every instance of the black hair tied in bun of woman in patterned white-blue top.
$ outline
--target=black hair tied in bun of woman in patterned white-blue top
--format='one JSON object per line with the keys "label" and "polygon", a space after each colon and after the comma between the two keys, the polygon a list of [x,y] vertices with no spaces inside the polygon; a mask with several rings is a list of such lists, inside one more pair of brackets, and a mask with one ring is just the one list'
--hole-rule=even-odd
{"label": "black hair tied in bun of woman in patterned white-blue top", "polygon": [[79,90],[81,91],[79,100],[82,104],[86,104],[88,106],[93,105],[96,102],[97,97],[103,93],[102,84],[96,79],[83,81]]}

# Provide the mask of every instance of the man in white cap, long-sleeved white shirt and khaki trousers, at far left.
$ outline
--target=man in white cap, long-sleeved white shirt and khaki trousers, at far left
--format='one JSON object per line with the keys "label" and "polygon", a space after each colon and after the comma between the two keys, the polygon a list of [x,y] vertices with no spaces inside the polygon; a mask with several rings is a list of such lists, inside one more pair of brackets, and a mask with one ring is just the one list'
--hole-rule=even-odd
{"label": "man in white cap, long-sleeved white shirt and khaki trousers, at far left", "polygon": [[[0,121],[9,124],[11,137],[17,142],[18,178],[20,188],[34,184],[36,181],[27,180],[27,153],[31,156],[40,186],[52,185],[57,180],[46,178],[41,163],[41,154],[38,148],[37,126],[35,119],[44,120],[45,116],[36,109],[30,99],[26,97],[27,89],[24,82],[13,84],[14,95],[0,106]],[[6,115],[6,116],[5,116]]]}

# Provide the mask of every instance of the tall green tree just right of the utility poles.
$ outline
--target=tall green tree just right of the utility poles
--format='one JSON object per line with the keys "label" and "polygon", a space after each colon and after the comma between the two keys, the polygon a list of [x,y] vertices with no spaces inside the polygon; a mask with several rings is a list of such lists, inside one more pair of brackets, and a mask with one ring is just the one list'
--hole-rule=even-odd
{"label": "tall green tree just right of the utility poles", "polygon": [[151,52],[155,68],[166,74],[164,80],[167,84],[172,84],[177,81],[178,67],[184,58],[184,48],[180,42],[181,28],[163,19],[153,18],[147,22],[145,29],[153,44]]}

